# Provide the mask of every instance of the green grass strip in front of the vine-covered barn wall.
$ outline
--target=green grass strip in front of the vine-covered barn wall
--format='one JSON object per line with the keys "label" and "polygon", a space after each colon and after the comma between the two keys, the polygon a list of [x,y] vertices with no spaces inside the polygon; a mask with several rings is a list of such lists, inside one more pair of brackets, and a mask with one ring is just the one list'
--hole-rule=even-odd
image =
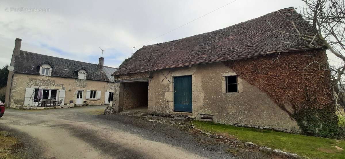
{"label": "green grass strip in front of the vine-covered barn wall", "polygon": [[204,121],[193,121],[193,124],[206,132],[228,134],[243,142],[253,142],[259,146],[280,149],[311,159],[345,159],[345,150],[341,150],[345,149],[345,140],[234,127]]}

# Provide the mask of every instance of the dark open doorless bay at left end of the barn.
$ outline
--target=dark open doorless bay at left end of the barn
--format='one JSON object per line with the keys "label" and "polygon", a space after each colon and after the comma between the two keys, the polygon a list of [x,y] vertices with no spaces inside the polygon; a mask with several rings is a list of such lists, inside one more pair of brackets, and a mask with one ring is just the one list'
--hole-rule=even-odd
{"label": "dark open doorless bay at left end of the barn", "polygon": [[145,82],[124,82],[120,84],[119,111],[138,109],[147,111],[148,85]]}

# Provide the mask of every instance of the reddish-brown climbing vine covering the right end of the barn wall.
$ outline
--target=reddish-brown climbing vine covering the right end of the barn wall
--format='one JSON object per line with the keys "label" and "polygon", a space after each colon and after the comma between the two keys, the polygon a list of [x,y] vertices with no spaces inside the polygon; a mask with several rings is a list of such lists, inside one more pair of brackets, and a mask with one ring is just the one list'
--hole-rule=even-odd
{"label": "reddish-brown climbing vine covering the right end of the barn wall", "polygon": [[335,137],[338,126],[331,73],[320,65],[328,66],[325,51],[282,53],[279,60],[273,61],[276,57],[272,54],[223,63],[270,96],[292,120],[296,120],[304,134]]}

